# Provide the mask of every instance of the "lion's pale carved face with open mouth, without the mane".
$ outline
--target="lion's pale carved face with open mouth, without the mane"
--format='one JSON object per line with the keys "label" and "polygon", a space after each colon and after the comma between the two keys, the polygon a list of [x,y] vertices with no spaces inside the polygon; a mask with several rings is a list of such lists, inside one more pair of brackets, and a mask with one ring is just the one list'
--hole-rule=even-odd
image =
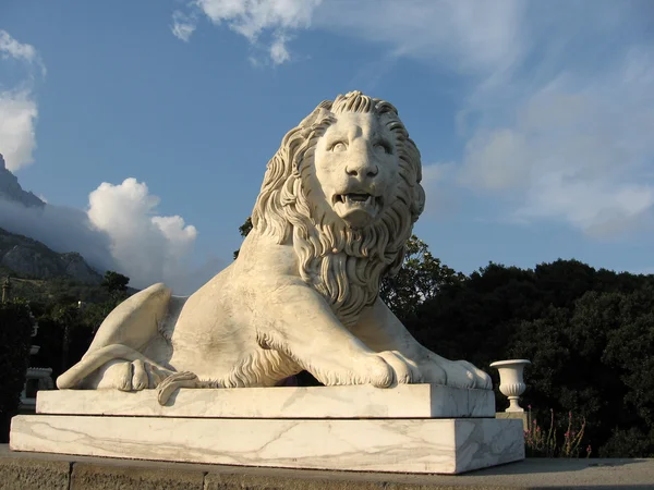
{"label": "lion's pale carved face with open mouth, without the mane", "polygon": [[396,138],[376,114],[342,113],[316,144],[305,191],[324,213],[359,229],[395,200],[399,168]]}

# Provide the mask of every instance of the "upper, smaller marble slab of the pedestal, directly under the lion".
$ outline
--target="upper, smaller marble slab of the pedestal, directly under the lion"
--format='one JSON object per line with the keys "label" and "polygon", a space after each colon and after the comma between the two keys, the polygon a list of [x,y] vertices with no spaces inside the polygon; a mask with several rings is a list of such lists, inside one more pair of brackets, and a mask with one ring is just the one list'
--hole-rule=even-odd
{"label": "upper, smaller marble slab of the pedestal, directly under the lion", "polygon": [[156,390],[39,391],[36,412],[216,418],[465,418],[495,417],[492,390],[436,384],[182,389],[165,406]]}

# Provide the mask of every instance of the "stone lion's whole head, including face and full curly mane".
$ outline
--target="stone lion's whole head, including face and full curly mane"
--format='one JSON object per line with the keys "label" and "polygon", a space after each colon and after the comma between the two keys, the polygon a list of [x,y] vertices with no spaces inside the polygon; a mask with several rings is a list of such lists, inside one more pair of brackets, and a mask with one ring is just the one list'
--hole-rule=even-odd
{"label": "stone lion's whole head, including face and full curly mane", "polygon": [[397,109],[360,91],[322,102],[268,162],[254,232],[292,243],[300,275],[344,324],[395,274],[423,210],[420,152]]}

